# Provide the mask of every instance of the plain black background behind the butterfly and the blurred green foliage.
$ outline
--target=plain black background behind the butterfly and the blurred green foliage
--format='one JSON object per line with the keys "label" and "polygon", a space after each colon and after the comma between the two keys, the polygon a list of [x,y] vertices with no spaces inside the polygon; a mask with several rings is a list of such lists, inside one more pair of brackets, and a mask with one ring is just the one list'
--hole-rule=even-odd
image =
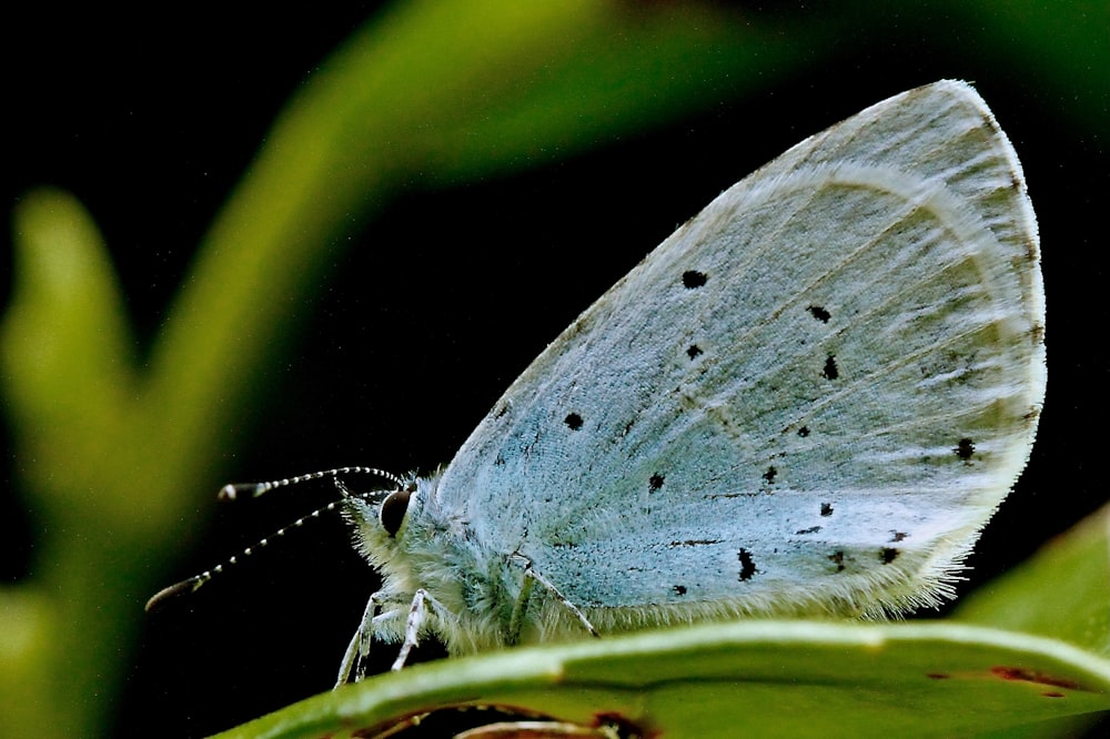
{"label": "plain black background behind the butterfly and the blurred green foliage", "polygon": [[[84,8],[60,19],[43,7],[4,22],[3,210],[41,184],[81,200],[114,254],[140,353],[284,101],[374,3],[218,8]],[[229,478],[349,464],[430,472],[562,328],[720,190],[866,105],[956,77],[977,84],[1021,156],[1048,295],[1040,436],[983,535],[968,589],[998,575],[1107,497],[1110,158],[1106,140],[1063,110],[1077,90],[1103,105],[1110,91],[1083,92],[1081,81],[1052,91],[1006,60],[938,44],[937,33],[944,19],[877,42],[846,39],[834,59],[663,130],[511,178],[414,188],[301,306],[296,348],[261,378],[269,404],[244,419]],[[4,277],[0,298],[9,290]],[[9,452],[4,463],[18,459]],[[167,583],[333,497],[321,485],[218,507],[214,490],[198,490],[195,518],[165,532],[195,541]],[[18,583],[32,567],[34,523],[7,496],[0,517],[3,575]],[[118,732],[198,736],[327,689],[374,584],[341,522],[325,520],[153,615]]]}

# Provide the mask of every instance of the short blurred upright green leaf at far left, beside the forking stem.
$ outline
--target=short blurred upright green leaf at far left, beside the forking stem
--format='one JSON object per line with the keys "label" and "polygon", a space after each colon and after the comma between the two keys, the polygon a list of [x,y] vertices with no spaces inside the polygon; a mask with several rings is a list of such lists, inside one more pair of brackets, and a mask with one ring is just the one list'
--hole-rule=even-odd
{"label": "short blurred upright green leaf at far left, beside the forking stem", "polygon": [[102,432],[118,431],[130,411],[134,340],[111,259],[80,203],[33,193],[17,209],[14,230],[20,279],[0,347],[8,409],[37,465],[77,474],[51,488],[63,497],[50,504],[85,509],[87,470],[72,458],[115,451],[117,438]]}

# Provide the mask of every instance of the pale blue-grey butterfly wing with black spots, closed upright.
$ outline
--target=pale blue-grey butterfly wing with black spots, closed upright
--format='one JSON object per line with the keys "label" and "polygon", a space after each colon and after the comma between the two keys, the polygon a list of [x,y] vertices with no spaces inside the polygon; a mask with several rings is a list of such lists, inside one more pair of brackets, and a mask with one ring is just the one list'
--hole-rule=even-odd
{"label": "pale blue-grey butterfly wing with black spots, closed upright", "polygon": [[942,81],[794,146],[508,388],[437,504],[599,627],[935,601],[1028,457],[1038,237]]}

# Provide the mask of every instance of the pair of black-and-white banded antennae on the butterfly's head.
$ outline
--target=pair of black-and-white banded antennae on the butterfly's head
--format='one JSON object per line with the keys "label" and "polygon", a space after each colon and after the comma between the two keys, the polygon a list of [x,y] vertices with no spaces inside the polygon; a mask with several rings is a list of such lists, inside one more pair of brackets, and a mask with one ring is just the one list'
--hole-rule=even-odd
{"label": "pair of black-and-white banded antennae on the butterfly's head", "polygon": [[340,505],[342,505],[343,500],[346,498],[361,497],[369,500],[373,500],[374,498],[384,499],[386,496],[390,495],[390,493],[392,493],[392,490],[372,490],[370,493],[353,493],[351,488],[349,488],[339,477],[340,475],[346,475],[346,474],[376,475],[379,477],[383,477],[390,480],[391,483],[395,483],[398,487],[405,486],[405,480],[398,477],[397,475],[394,475],[393,473],[385,472],[382,469],[375,469],[373,467],[336,467],[335,469],[325,469],[323,472],[311,473],[309,475],[297,475],[296,477],[287,477],[284,479],[272,480],[269,483],[242,483],[235,485],[224,485],[220,489],[220,495],[219,495],[220,499],[235,500],[242,495],[249,494],[250,497],[256,498],[263,493],[268,493],[276,487],[287,487],[290,485],[297,485],[300,483],[307,483],[310,480],[320,479],[321,477],[331,477],[335,483],[335,487],[342,494],[343,499],[332,500],[326,506],[316,508],[315,510],[305,516],[301,516],[289,526],[279,528],[270,536],[260,539],[256,544],[254,544],[254,546],[246,547],[240,554],[233,557],[229,557],[225,561],[216,565],[212,569],[206,569],[200,575],[193,575],[192,577],[181,580],[180,583],[174,583],[170,587],[162,588],[161,590],[155,593],[150,600],[147,601],[145,606],[147,613],[161,608],[167,600],[170,600],[171,598],[178,595],[195,591],[199,587],[211,580],[216,575],[223,574],[223,571],[229,567],[231,567],[232,565],[238,565],[240,560],[245,559],[246,557],[250,557],[256,551],[270,546],[271,541],[274,541],[285,536],[285,534],[293,530],[294,528],[300,528],[301,526],[304,526],[304,524],[311,519],[320,518],[324,514],[332,513]]}

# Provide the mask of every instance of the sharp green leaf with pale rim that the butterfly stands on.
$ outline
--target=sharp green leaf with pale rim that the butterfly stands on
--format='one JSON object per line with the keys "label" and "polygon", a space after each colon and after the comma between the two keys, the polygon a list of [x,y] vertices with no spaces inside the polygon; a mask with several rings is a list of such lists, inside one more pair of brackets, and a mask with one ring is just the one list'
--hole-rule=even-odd
{"label": "sharp green leaf with pale rim that the butterfly stands on", "polygon": [[220,736],[377,736],[461,706],[670,739],[968,736],[1110,709],[1110,662],[972,626],[749,621],[417,665]]}

